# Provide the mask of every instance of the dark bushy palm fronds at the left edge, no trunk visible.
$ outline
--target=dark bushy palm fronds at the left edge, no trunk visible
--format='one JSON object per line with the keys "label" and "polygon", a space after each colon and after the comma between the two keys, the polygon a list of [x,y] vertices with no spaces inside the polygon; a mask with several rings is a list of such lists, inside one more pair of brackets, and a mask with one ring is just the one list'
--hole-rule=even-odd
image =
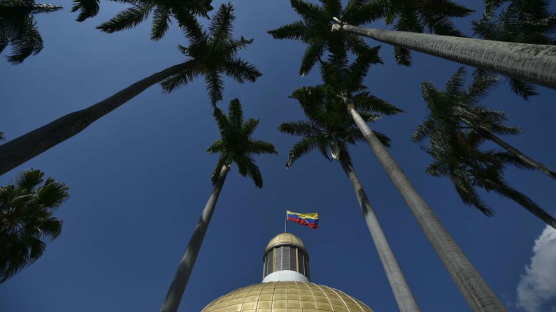
{"label": "dark bushy palm fronds at the left edge, no trunk visible", "polygon": [[41,258],[45,242],[62,232],[52,214],[69,198],[68,187],[43,177],[31,169],[0,186],[0,283]]}

